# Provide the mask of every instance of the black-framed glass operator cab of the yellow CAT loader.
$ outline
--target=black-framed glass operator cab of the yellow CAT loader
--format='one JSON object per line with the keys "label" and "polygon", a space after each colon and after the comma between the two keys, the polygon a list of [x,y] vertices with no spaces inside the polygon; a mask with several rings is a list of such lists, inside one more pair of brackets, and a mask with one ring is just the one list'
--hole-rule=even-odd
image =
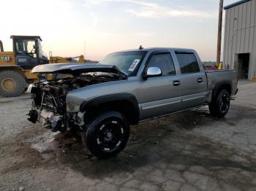
{"label": "black-framed glass operator cab of the yellow CAT loader", "polygon": [[48,58],[43,55],[40,36],[11,36],[11,39],[16,64],[23,69],[48,63]]}

